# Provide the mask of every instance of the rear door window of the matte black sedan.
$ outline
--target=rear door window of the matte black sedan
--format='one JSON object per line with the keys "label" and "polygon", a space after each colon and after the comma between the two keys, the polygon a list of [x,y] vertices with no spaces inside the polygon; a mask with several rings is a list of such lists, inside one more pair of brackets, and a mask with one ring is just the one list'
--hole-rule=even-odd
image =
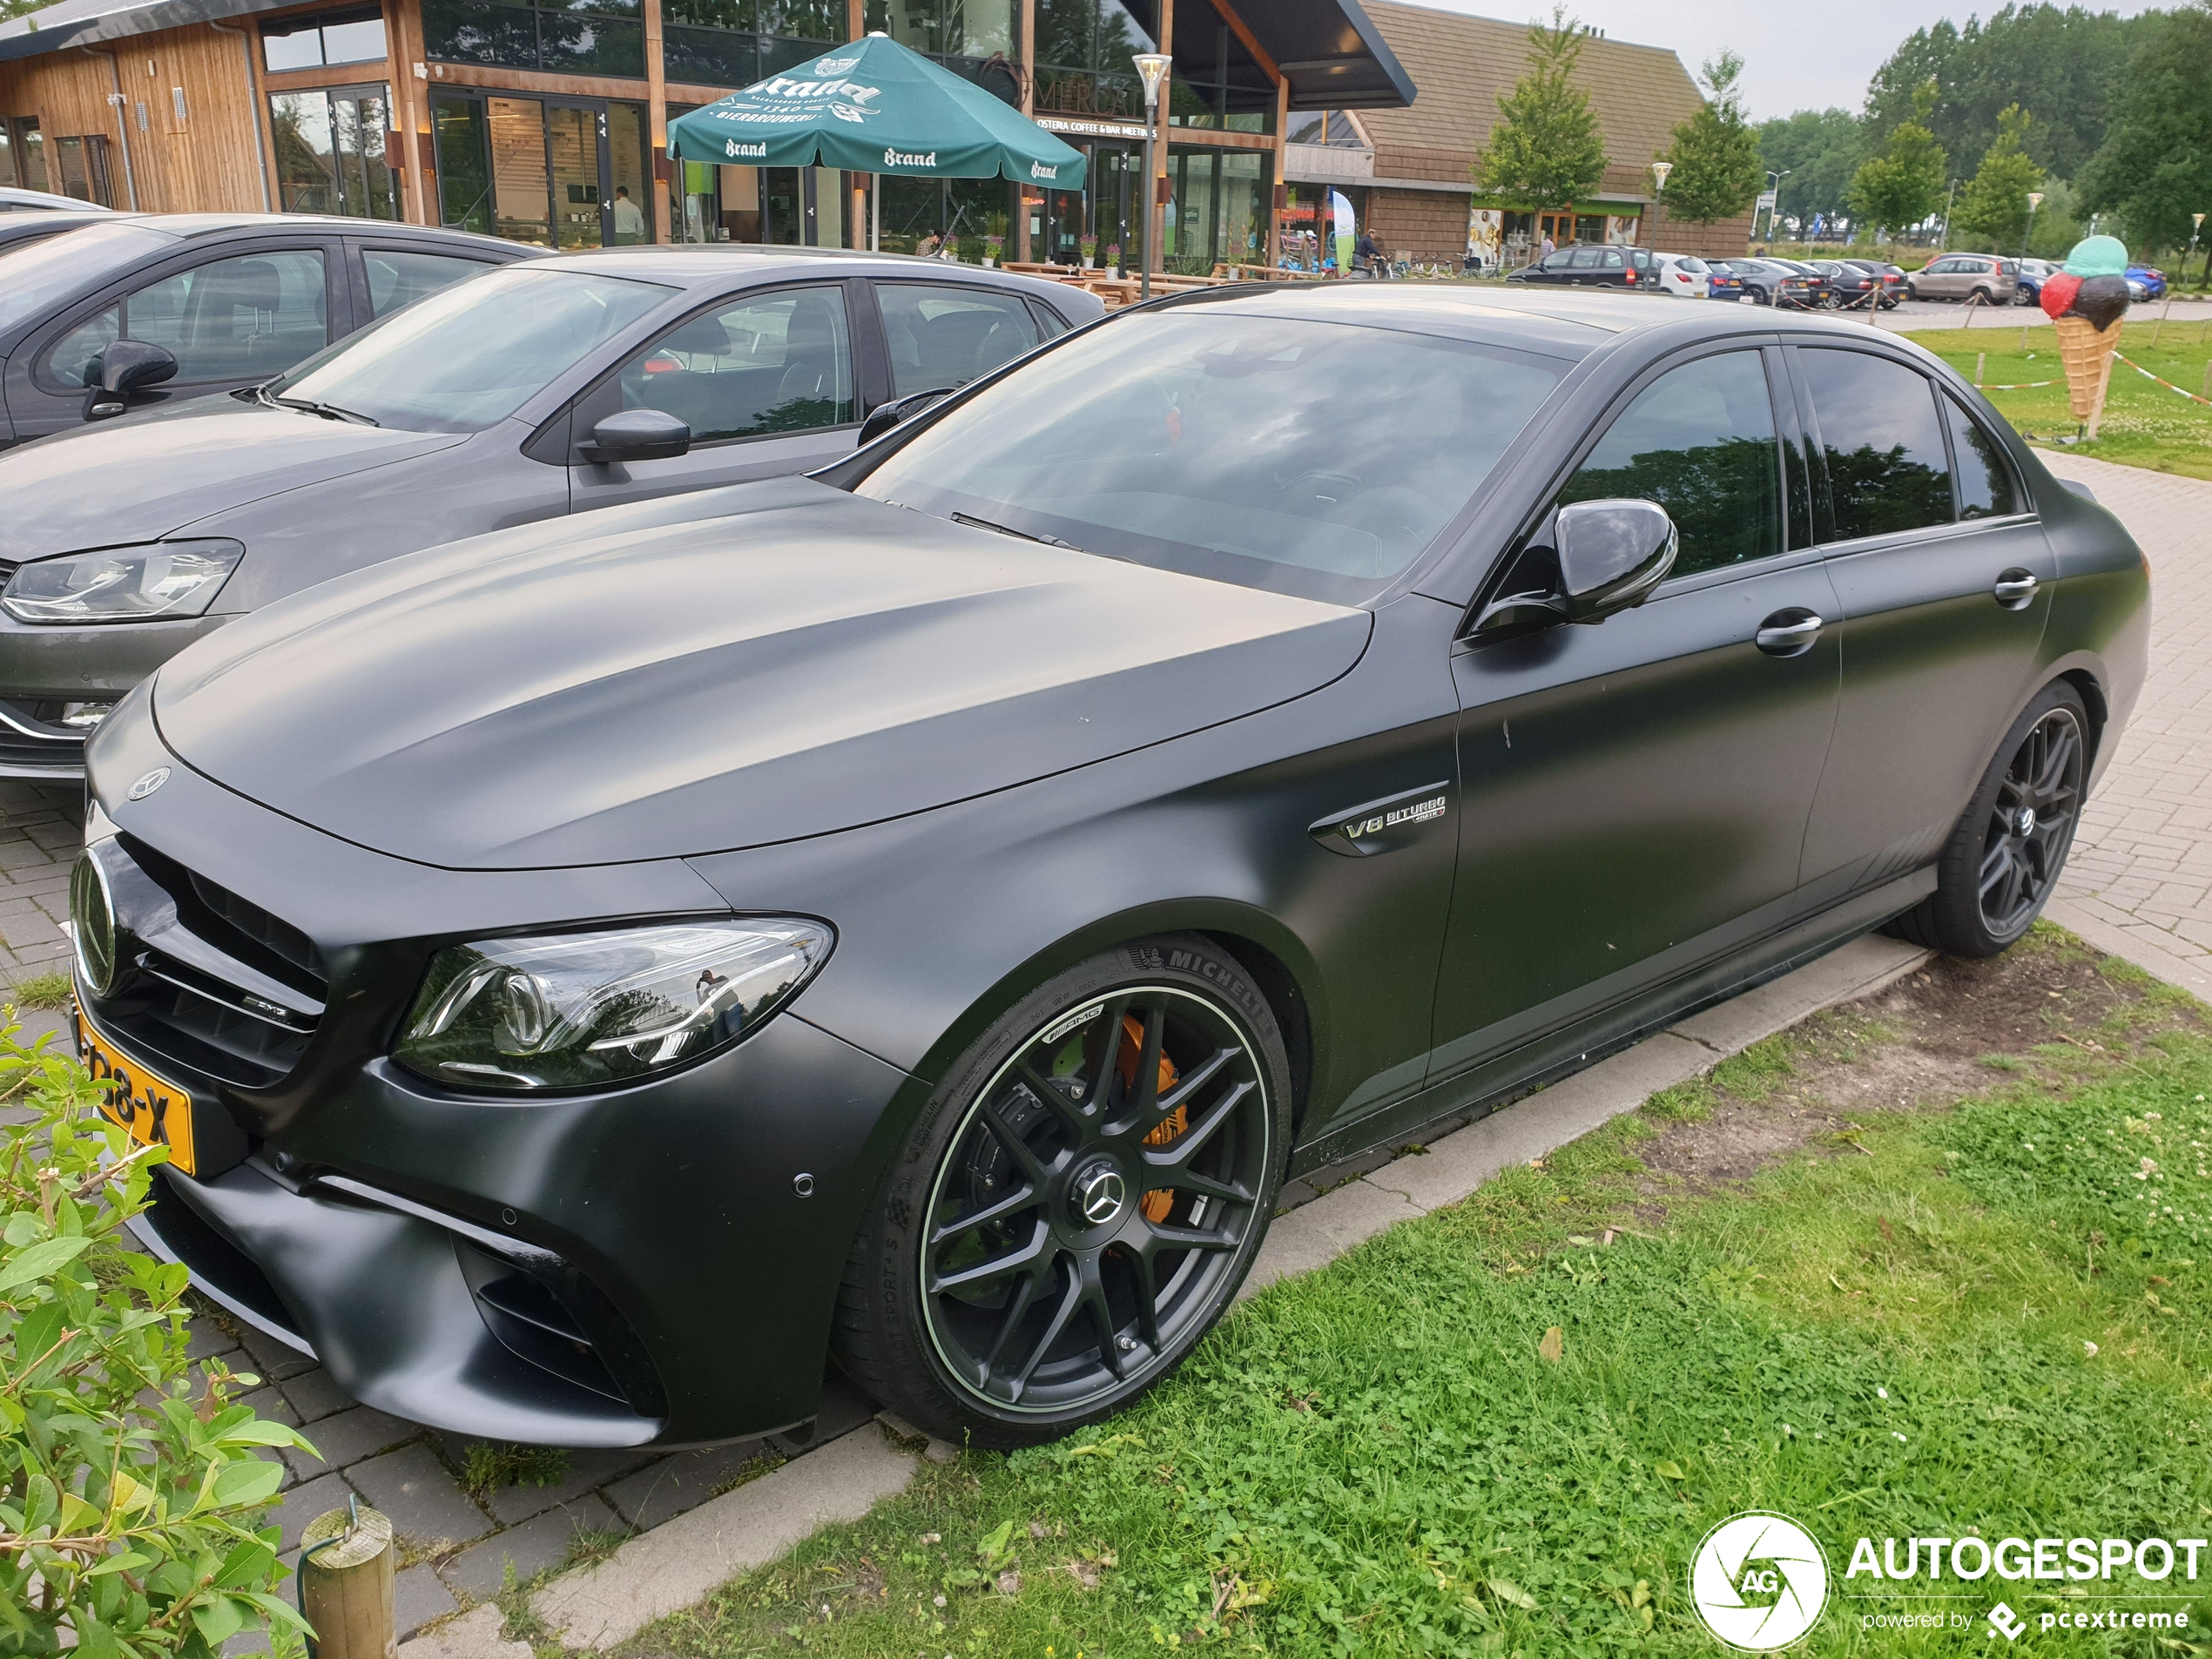
{"label": "rear door window of the matte black sedan", "polygon": [[1836,538],[1951,522],[1951,462],[1936,389],[1918,369],[1869,352],[1798,352],[1827,456]]}

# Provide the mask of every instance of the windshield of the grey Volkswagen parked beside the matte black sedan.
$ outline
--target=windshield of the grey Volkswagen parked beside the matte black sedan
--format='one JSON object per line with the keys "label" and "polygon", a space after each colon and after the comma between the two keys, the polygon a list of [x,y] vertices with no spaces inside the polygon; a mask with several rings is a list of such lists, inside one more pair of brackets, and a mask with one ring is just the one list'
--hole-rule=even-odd
{"label": "windshield of the grey Volkswagen parked beside the matte black sedan", "polygon": [[489,270],[307,358],[270,396],[403,431],[482,431],[672,292],[580,270]]}

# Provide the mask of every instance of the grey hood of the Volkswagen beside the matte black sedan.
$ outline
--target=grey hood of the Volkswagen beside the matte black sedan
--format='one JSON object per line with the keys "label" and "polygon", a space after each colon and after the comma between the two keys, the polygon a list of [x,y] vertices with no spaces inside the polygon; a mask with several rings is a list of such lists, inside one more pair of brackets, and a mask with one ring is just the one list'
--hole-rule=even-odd
{"label": "grey hood of the Volkswagen beside the matte black sedan", "polygon": [[[0,560],[153,542],[263,495],[458,442],[460,434],[363,427],[228,396],[77,427],[0,456]],[[128,489],[117,489],[122,480]]]}

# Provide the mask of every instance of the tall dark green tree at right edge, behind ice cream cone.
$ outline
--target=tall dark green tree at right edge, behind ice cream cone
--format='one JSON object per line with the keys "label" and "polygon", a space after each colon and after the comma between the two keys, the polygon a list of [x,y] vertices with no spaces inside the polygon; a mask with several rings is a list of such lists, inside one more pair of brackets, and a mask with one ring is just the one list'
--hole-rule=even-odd
{"label": "tall dark green tree at right edge, behind ice cream cone", "polygon": [[2081,173],[2081,201],[2117,212],[2141,252],[2185,248],[2212,212],[2212,9],[2157,15],[2121,84],[2112,131]]}

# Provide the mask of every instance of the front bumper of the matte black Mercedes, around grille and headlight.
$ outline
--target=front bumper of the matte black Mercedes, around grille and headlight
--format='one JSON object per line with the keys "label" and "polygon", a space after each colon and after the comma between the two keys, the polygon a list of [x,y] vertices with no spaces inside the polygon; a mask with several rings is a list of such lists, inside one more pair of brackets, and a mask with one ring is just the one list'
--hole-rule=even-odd
{"label": "front bumper of the matte black Mercedes, around grille and headlight", "polygon": [[[126,801],[157,765],[173,776]],[[354,1398],[458,1433],[695,1444],[814,1416],[845,1259],[920,1084],[803,998],[697,1066],[591,1095],[465,1095],[387,1057],[445,942],[726,909],[681,860],[372,854],[190,772],[144,697],[91,774],[135,872],[166,883],[153,909],[175,907],[146,925],[159,960],[86,1000],[111,1048],[192,1095],[199,1175],[159,1177],[148,1248]],[[265,1042],[190,991],[221,995],[226,953],[321,973],[312,1033]]]}

